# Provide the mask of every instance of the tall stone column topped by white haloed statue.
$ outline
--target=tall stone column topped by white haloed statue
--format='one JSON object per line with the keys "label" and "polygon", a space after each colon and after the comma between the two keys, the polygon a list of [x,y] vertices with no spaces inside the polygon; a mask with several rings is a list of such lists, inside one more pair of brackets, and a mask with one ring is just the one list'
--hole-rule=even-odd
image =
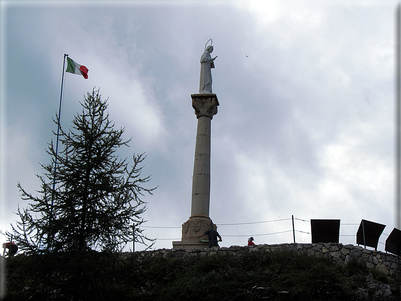
{"label": "tall stone column topped by white haloed statue", "polygon": [[[209,42],[209,41],[208,41]],[[207,43],[208,44],[208,43]],[[197,118],[195,160],[193,164],[191,216],[182,225],[180,241],[173,241],[173,248],[205,248],[208,241],[197,237],[212,226],[209,217],[210,205],[210,128],[213,116],[217,114],[219,101],[212,93],[212,71],[215,68],[211,53],[213,46],[205,45],[201,57],[201,77],[199,79],[199,94],[191,94],[192,108]],[[217,226],[213,224],[213,229]]]}

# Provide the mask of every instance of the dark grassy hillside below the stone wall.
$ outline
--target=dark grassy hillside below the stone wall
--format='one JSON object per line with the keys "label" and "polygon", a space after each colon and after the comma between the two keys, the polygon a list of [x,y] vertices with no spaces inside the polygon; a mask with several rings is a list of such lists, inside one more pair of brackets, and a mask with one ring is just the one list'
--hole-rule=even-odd
{"label": "dark grassy hillside below the stone wall", "polygon": [[291,252],[138,260],[138,253],[7,261],[5,300],[399,300],[401,277]]}

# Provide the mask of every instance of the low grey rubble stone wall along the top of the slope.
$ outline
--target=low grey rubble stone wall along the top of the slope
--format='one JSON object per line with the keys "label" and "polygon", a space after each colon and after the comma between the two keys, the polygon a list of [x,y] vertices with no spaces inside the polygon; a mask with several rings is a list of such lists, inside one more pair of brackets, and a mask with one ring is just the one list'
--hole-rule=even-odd
{"label": "low grey rubble stone wall along the top of the slope", "polygon": [[[399,258],[395,255],[380,251],[365,249],[353,244],[342,245],[341,243],[282,243],[282,244],[258,244],[252,246],[213,247],[204,249],[157,249],[152,251],[135,252],[140,260],[163,256],[185,257],[191,255],[214,255],[214,254],[238,254],[240,252],[257,252],[259,250],[280,251],[289,250],[298,255],[308,255],[327,258],[337,264],[346,264],[351,259],[358,259],[366,263],[368,268],[376,268],[385,274],[401,274]],[[123,253],[123,258],[131,255],[130,252]]]}

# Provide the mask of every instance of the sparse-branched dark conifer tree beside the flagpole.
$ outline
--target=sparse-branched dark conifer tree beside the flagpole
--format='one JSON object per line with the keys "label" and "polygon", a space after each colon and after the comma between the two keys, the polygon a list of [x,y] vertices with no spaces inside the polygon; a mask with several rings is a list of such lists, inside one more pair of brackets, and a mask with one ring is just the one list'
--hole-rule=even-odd
{"label": "sparse-branched dark conifer tree beside the flagpole", "polygon": [[[48,143],[51,163],[41,164],[44,172],[37,175],[41,182],[38,195],[18,183],[29,205],[18,208],[20,221],[6,235],[13,235],[26,253],[119,252],[133,239],[153,244],[140,228],[146,210],[141,197],[156,189],[143,186],[150,180],[141,175],[146,156],[134,154],[131,165],[118,157],[116,150],[128,146],[131,139],[124,140],[124,128],[115,129],[109,120],[107,100],[101,99],[99,90],[88,92],[71,129],[60,129],[63,150],[56,155],[53,140]],[[57,115],[55,122],[59,122]]]}

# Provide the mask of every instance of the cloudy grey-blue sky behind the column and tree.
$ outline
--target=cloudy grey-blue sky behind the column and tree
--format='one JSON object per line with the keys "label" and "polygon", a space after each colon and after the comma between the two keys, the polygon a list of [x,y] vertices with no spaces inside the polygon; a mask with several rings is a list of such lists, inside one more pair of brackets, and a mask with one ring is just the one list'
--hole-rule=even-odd
{"label": "cloudy grey-blue sky behind the column and tree", "polygon": [[[62,127],[94,87],[130,147],[145,152],[144,233],[172,248],[190,216],[198,93],[206,42],[220,106],[211,125],[210,217],[220,246],[311,242],[311,219],[395,227],[396,1],[0,1],[0,228],[17,183],[31,193],[48,164],[64,54]],[[4,240],[3,236],[0,239]],[[126,249],[132,248],[129,242]],[[135,243],[135,250],[146,246]]]}

